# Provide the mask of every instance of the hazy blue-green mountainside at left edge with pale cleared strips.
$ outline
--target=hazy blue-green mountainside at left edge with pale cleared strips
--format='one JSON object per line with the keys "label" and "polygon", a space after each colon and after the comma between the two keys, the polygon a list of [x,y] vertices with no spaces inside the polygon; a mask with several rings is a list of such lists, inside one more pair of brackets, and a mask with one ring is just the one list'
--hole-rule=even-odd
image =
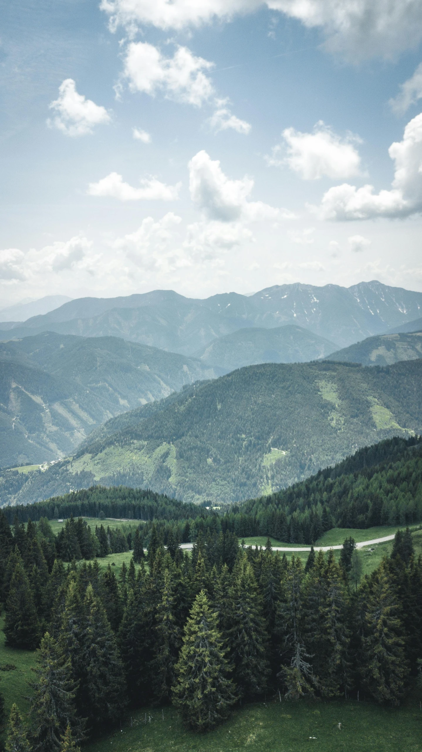
{"label": "hazy blue-green mountainside at left edge with pale cleared strips", "polygon": [[0,343],[1,465],[66,456],[104,420],[214,376],[198,360],[115,337]]}

